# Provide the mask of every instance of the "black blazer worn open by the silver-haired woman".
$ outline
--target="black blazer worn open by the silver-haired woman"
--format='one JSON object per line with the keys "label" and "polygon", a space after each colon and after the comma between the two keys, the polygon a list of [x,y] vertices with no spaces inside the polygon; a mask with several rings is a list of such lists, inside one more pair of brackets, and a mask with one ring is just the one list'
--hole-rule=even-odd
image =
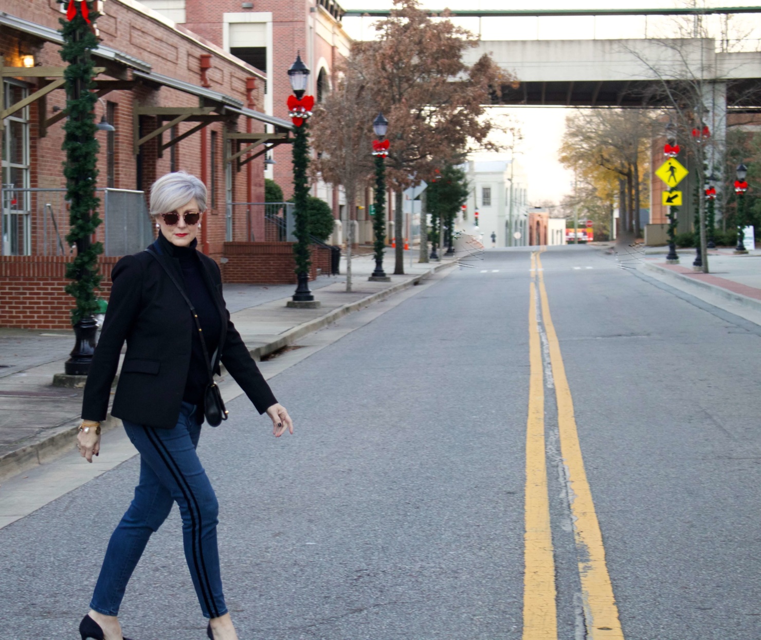
{"label": "black blazer worn open by the silver-haired woman", "polygon": [[[167,255],[161,239],[151,248],[183,284],[180,261]],[[217,263],[201,252],[199,258],[202,276],[221,316],[219,347],[216,354],[210,354],[213,369],[219,373],[221,361],[256,410],[264,413],[277,403],[275,396],[230,321]],[[172,429],[180,413],[196,331],[190,309],[148,252],[124,256],[114,265],[111,280],[106,318],[84,386],[82,418],[101,422],[106,419],[111,383],[126,340],[127,351],[111,414],[133,423]]]}

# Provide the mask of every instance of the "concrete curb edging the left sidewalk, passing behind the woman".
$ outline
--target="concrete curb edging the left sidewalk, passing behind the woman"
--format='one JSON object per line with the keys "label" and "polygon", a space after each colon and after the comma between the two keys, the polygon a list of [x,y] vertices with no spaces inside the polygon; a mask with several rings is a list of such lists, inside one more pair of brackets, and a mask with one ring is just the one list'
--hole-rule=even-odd
{"label": "concrete curb edging the left sidewalk, passing behind the woman", "polygon": [[[373,303],[377,303],[381,299],[393,296],[394,293],[399,293],[400,291],[414,287],[426,277],[456,264],[457,262],[455,261],[441,262],[440,264],[435,265],[435,267],[428,269],[428,271],[425,271],[425,273],[411,277],[409,280],[393,284],[387,289],[372,293],[371,295],[358,299],[353,303],[339,306],[338,309],[333,309],[333,311],[320,316],[320,318],[314,318],[314,320],[304,322],[303,324],[286,331],[282,334],[282,337],[279,337],[277,340],[256,347],[255,349],[250,350],[249,353],[254,360],[260,361],[263,356],[268,356],[274,351],[282,349],[283,347],[288,347],[289,344],[293,344],[299,338],[304,337],[313,331],[317,331],[317,329],[321,329],[326,325],[330,325],[332,322],[336,322],[336,320],[342,318],[344,315],[349,315],[349,313],[363,309]],[[221,366],[221,371],[226,372],[224,366]],[[11,476],[21,474],[32,467],[45,464],[46,462],[58,458],[62,453],[71,450],[77,440],[79,422],[80,420],[78,418],[75,420],[67,420],[65,423],[57,426],[56,432],[53,434],[46,434],[46,437],[41,438],[36,442],[30,442],[15,451],[10,451],[5,455],[0,456],[0,482]],[[119,420],[119,418],[113,417],[109,413],[105,422],[101,424],[101,430],[110,431],[111,429],[116,429],[118,426],[122,426],[122,421]]]}

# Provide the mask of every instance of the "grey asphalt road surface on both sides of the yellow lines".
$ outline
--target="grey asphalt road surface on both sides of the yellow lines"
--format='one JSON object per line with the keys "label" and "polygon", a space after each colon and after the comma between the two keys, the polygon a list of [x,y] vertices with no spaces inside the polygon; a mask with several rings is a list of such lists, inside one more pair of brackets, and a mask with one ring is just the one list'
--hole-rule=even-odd
{"label": "grey asphalt road surface on both sides of the yellow lines", "polygon": [[[761,638],[759,327],[594,249],[540,260],[622,635]],[[205,427],[241,640],[522,637],[538,272],[528,251],[469,264],[272,379],[295,436],[273,439],[244,397]],[[557,637],[578,640],[580,551],[546,319]],[[137,470],[133,458],[0,530],[0,640],[76,637]],[[177,512],[120,618],[134,640],[205,637]]]}

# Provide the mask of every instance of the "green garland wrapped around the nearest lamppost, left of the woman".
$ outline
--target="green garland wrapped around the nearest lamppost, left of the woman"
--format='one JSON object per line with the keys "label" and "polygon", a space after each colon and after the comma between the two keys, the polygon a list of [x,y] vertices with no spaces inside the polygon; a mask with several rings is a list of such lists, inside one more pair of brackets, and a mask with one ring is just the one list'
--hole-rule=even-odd
{"label": "green garland wrapped around the nearest lamppost, left of the woman", "polygon": [[[88,8],[92,3],[88,2]],[[91,11],[91,21],[99,16]],[[77,246],[77,256],[66,267],[66,277],[72,280],[65,287],[74,296],[76,307],[72,309],[72,325],[82,318],[94,315],[98,310],[95,290],[100,287],[97,256],[103,253],[100,242],[91,242],[91,236],[100,225],[97,208],[100,200],[95,197],[97,179],[97,154],[100,148],[95,133],[95,103],[93,93],[94,64],[90,52],[98,46],[91,26],[77,11],[72,21],[61,19],[64,44],[61,58],[68,62],[63,77],[66,89],[65,138],[62,149],[66,152],[63,175],[66,178],[66,199],[69,203],[71,229],[66,242]]]}

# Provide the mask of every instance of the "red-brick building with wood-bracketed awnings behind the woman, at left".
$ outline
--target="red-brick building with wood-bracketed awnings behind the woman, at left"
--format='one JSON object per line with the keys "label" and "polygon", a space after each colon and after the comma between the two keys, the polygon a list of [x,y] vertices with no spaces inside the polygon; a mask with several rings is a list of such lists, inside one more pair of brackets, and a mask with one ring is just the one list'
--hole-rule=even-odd
{"label": "red-brick building with wood-bracketed awnings behind the woman, at left", "polygon": [[[263,201],[264,157],[253,157],[260,149],[239,154],[240,146],[261,143],[266,128],[275,142],[287,141],[291,130],[289,121],[260,110],[263,72],[134,0],[104,4],[94,52],[95,115],[115,130],[97,134],[103,274],[118,255],[139,250],[142,239],[152,237],[147,190],[170,170],[194,173],[209,188],[203,252],[219,260],[226,241],[265,239],[263,215],[253,219],[226,207],[229,201]],[[72,301],[63,293],[63,274],[72,257],[62,239],[68,230],[61,149],[65,63],[58,33],[64,15],[65,5],[55,0],[5,0],[0,11],[5,326],[69,327]]]}

